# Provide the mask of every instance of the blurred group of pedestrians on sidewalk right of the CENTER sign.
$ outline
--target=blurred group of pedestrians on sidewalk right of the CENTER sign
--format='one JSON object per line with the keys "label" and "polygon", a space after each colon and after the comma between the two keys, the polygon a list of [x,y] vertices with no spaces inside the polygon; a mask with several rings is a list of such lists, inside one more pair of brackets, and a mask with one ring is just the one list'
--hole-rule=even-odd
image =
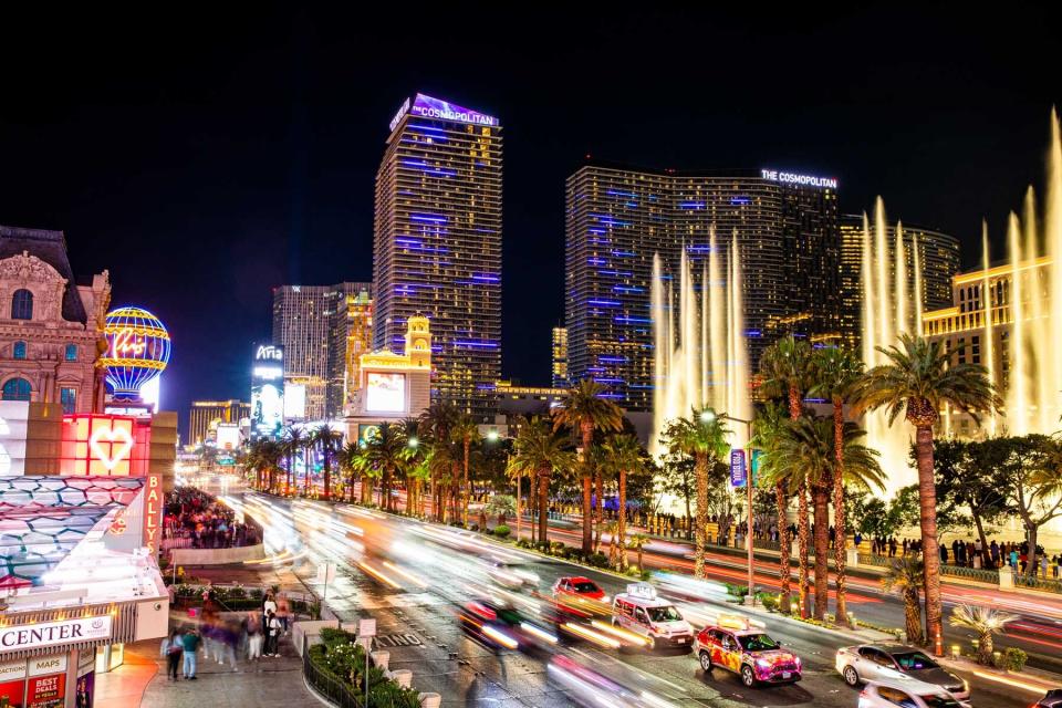
{"label": "blurred group of pedestrians on sidewalk right of the CENTER sign", "polygon": [[280,639],[289,634],[291,618],[291,606],[284,594],[274,597],[268,593],[262,606],[239,622],[222,617],[217,603],[207,594],[202,623],[198,627],[176,628],[163,639],[159,650],[166,659],[168,679],[196,680],[200,649],[205,660],[230,666],[233,671],[239,670],[238,657],[256,663],[263,657],[278,657]]}

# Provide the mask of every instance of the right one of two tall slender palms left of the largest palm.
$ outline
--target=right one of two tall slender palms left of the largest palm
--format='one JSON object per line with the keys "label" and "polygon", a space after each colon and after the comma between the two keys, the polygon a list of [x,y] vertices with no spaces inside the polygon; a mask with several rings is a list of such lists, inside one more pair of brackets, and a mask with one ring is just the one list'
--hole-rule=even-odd
{"label": "right one of two tall slender palms left of the largest palm", "polygon": [[[833,442],[835,473],[833,477],[833,563],[836,569],[837,586],[837,610],[835,613],[836,622],[842,627],[848,626],[848,607],[845,597],[847,593],[847,582],[845,574],[845,556],[847,546],[847,535],[845,527],[847,524],[847,511],[844,507],[844,451],[842,441],[844,440],[844,404],[850,403],[852,392],[863,376],[863,362],[852,350],[824,347],[815,350],[812,355],[812,369],[814,372],[815,384],[809,392],[812,396],[822,396],[829,398],[833,404]],[[819,517],[815,517],[818,523]],[[815,554],[818,559],[818,552]],[[818,561],[816,561],[818,562]],[[818,570],[815,571],[818,579]],[[818,591],[815,591],[818,593]],[[818,595],[816,595],[818,596]]]}

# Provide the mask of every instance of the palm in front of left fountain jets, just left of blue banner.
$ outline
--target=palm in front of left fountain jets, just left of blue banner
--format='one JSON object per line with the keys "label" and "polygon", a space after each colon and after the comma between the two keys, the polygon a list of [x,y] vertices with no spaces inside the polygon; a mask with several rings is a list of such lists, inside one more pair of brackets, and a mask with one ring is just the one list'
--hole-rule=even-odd
{"label": "palm in front of left fountain jets, just left of blue banner", "polygon": [[671,420],[664,430],[664,445],[673,455],[686,455],[694,458],[694,473],[697,478],[697,528],[696,561],[694,575],[705,576],[705,551],[708,540],[705,538],[708,525],[708,473],[715,465],[726,459],[730,452],[727,441],[730,430],[721,416],[711,408],[694,408],[689,418]]}

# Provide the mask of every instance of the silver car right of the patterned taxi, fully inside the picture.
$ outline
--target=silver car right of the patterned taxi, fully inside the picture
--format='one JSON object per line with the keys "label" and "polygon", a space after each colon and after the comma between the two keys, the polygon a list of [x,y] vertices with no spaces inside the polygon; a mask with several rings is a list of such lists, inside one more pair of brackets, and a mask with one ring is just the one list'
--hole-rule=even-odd
{"label": "silver car right of the patterned taxi, fully inside the picture", "polygon": [[904,644],[861,644],[837,649],[837,673],[848,686],[861,681],[909,677],[934,684],[958,700],[968,700],[970,685],[946,670],[926,654]]}

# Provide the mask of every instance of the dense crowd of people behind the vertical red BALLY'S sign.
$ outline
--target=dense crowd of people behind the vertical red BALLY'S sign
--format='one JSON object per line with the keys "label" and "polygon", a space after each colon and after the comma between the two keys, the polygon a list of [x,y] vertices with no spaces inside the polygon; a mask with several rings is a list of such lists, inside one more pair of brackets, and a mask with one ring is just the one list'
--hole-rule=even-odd
{"label": "dense crowd of people behind the vertical red BALLY'S sign", "polygon": [[260,543],[258,527],[236,520],[236,512],[192,487],[166,494],[164,539],[187,539],[194,549],[227,549]]}

